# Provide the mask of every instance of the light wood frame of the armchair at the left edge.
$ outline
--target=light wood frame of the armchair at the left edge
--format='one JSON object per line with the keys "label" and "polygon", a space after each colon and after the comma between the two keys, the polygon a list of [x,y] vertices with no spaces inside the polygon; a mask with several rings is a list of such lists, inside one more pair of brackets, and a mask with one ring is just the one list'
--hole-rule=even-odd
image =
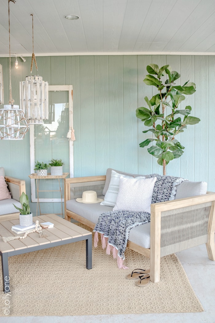
{"label": "light wood frame of the armchair at the left edge", "polygon": [[[21,180],[19,178],[11,177],[11,176],[6,176],[5,175],[5,181],[8,185],[8,190],[12,194],[12,198],[14,200],[19,201],[19,197],[21,196],[22,192],[25,192],[25,181]],[[0,215],[0,220],[5,221],[5,220],[13,220],[19,217],[20,212],[15,212],[15,213],[10,213],[10,214],[4,214]]]}

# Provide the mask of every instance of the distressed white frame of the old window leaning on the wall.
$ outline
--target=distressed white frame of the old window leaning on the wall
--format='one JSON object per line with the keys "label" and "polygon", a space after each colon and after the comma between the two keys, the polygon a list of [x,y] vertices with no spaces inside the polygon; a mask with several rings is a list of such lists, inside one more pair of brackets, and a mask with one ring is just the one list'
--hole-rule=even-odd
{"label": "distressed white frame of the old window leaning on the wall", "polygon": [[[69,125],[73,127],[73,86],[72,85],[49,85],[49,91],[68,91],[69,92]],[[34,173],[34,124],[30,124],[30,167],[31,174]],[[69,172],[70,177],[74,177],[73,160],[73,140],[69,140]],[[35,180],[31,179],[31,201],[37,202]],[[40,198],[39,202],[64,202],[61,198]]]}

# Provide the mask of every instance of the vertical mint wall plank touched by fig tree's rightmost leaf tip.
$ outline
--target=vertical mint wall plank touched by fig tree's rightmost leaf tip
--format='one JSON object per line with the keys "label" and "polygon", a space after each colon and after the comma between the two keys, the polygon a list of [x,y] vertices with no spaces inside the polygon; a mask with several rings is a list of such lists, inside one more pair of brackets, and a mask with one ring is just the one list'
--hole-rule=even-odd
{"label": "vertical mint wall plank touched by fig tree's rightmost leaf tip", "polygon": [[208,56],[195,56],[195,81],[198,91],[195,92],[195,115],[200,122],[195,127],[194,147],[194,180],[208,182]]}

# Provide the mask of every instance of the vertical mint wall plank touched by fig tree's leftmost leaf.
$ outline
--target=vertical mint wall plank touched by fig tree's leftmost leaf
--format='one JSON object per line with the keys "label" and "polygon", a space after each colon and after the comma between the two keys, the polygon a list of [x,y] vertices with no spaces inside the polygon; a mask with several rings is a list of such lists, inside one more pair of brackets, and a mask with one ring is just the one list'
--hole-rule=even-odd
{"label": "vertical mint wall plank touched by fig tree's leftmost leaf", "polygon": [[123,128],[124,170],[138,172],[137,118],[137,56],[123,56]]}

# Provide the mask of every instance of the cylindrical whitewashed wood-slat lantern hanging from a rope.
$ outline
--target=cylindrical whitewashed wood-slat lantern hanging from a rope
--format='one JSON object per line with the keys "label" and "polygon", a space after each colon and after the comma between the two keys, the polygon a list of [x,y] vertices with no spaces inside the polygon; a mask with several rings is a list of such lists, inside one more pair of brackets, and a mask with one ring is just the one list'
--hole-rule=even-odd
{"label": "cylindrical whitewashed wood-slat lantern hanging from a rope", "polygon": [[[33,60],[38,71],[34,55],[34,21],[32,16],[33,53],[31,60],[31,73]],[[25,112],[29,124],[41,124],[48,119],[48,82],[37,76],[27,76],[20,82],[20,107]]]}

